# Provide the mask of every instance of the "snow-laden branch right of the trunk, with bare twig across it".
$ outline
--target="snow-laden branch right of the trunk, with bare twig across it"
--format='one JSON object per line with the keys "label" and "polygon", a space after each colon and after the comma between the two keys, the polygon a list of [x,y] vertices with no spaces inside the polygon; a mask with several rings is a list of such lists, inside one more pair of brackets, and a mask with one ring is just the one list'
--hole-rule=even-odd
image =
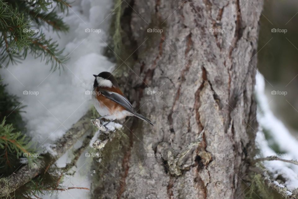
{"label": "snow-laden branch right of the trunk, with bare twig across it", "polygon": [[[254,162],[266,160],[263,163],[267,172],[267,175],[263,175],[266,184],[285,198],[295,198],[298,193],[298,167],[296,166],[298,165],[296,160],[298,142],[270,110],[269,101],[265,95],[265,80],[260,73],[256,74],[255,96],[259,105],[257,120],[260,125],[259,132],[256,134],[256,144],[260,149],[261,157],[257,157]],[[267,139],[264,136],[265,131],[268,134]],[[278,146],[278,149],[273,150],[272,143]],[[280,157],[287,157],[288,160]],[[292,165],[289,167],[287,163]],[[278,176],[282,176],[283,179],[279,183],[276,181]],[[289,193],[290,191],[292,194]]]}

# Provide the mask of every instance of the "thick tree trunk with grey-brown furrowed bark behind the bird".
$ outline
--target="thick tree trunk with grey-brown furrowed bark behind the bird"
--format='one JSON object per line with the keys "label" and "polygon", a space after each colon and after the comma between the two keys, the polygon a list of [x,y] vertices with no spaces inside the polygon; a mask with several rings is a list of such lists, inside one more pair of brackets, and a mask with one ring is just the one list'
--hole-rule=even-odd
{"label": "thick tree trunk with grey-brown furrowed bark behind the bird", "polygon": [[[119,55],[115,74],[135,109],[155,125],[125,121],[128,138],[107,144],[95,163],[93,198],[242,198],[257,131],[253,90],[263,1],[120,6],[123,44],[136,51],[134,64]],[[203,141],[173,166],[170,154],[204,127]]]}

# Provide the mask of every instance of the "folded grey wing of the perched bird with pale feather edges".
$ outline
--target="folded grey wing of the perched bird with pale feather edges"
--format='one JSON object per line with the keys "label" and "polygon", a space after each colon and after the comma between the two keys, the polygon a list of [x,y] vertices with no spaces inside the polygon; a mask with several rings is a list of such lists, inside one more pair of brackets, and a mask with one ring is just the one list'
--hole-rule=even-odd
{"label": "folded grey wing of the perched bird with pale feather edges", "polygon": [[123,95],[120,95],[118,93],[109,91],[109,90],[98,90],[100,92],[101,95],[105,96],[108,99],[111,99],[112,101],[116,102],[117,104],[120,104],[121,106],[123,106],[127,111],[129,111],[130,113],[135,113],[133,110],[133,106],[130,104],[130,102],[128,101],[128,99],[126,99],[126,97],[124,97]]}

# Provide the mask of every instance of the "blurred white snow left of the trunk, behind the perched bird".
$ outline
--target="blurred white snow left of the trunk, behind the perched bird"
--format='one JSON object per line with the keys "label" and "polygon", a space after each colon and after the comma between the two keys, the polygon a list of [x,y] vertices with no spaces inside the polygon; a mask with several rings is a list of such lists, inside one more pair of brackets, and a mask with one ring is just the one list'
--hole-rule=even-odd
{"label": "blurred white snow left of the trunk, behind the perched bird", "polygon": [[[21,64],[0,69],[4,83],[8,84],[8,92],[19,96],[22,105],[26,105],[22,117],[27,124],[27,133],[38,146],[49,152],[52,143],[91,107],[91,95],[86,95],[85,91],[92,90],[93,74],[111,72],[114,68],[114,63],[103,56],[113,1],[77,0],[72,1],[71,6],[68,16],[61,13],[70,26],[68,33],[59,33],[59,38],[56,33],[43,29],[48,37],[59,42],[61,49],[65,48],[65,54],[69,53],[61,75],[59,71],[50,72],[51,65],[45,65],[45,62],[30,55]],[[85,29],[93,32],[85,32]],[[82,143],[82,139],[78,145],[79,142]],[[68,151],[63,155],[58,160],[58,166],[65,166],[70,154],[71,151]],[[82,155],[77,168],[74,168],[77,172],[74,176],[66,176],[63,186],[90,188],[90,163],[91,158]],[[71,189],[42,198],[90,198],[90,191]]]}

